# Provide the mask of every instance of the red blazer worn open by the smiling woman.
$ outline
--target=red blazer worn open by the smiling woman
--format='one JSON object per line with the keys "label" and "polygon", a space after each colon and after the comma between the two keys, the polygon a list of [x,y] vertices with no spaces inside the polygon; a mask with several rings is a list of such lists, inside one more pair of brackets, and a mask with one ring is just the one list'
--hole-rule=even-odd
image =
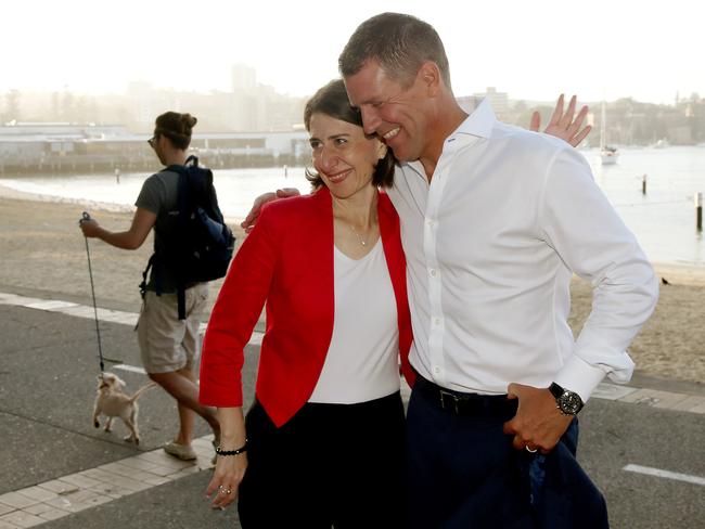
{"label": "red blazer worn open by the smiling woman", "polygon": [[[402,372],[411,317],[399,218],[380,193],[380,232],[397,300]],[[210,314],[201,360],[200,401],[242,405],[243,349],[267,302],[256,395],[277,426],[310,398],[333,334],[333,205],[326,188],[268,204],[233,259]],[[374,300],[370,300],[374,302]]]}

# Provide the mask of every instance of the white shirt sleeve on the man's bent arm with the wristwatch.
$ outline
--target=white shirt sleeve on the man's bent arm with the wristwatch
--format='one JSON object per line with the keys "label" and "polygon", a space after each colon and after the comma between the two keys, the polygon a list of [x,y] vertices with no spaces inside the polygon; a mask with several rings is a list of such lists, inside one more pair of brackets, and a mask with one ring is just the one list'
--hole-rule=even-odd
{"label": "white shirt sleeve on the man's bent arm with the wristwatch", "polygon": [[592,284],[592,310],[555,382],[587,401],[607,375],[631,378],[627,347],[654,310],[658,283],[634,235],[576,151],[559,151],[547,171],[539,233],[563,262]]}

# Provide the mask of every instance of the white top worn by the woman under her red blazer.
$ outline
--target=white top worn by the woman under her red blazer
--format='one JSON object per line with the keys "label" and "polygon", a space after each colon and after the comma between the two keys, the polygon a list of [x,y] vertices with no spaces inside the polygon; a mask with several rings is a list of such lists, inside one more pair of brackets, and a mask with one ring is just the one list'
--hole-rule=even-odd
{"label": "white top worn by the woman under her red blazer", "polygon": [[309,402],[386,397],[399,390],[399,327],[382,238],[358,260],[334,253],[333,336]]}

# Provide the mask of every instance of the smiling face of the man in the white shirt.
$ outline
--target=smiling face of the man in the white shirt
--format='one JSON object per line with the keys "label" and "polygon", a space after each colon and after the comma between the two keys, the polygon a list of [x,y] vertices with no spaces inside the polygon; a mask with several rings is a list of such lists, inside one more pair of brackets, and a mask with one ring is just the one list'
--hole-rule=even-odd
{"label": "smiling face of the man in the white shirt", "polygon": [[367,134],[377,134],[401,162],[426,154],[428,98],[419,76],[403,88],[375,61],[368,61],[360,72],[345,78],[345,87],[352,106],[360,108]]}

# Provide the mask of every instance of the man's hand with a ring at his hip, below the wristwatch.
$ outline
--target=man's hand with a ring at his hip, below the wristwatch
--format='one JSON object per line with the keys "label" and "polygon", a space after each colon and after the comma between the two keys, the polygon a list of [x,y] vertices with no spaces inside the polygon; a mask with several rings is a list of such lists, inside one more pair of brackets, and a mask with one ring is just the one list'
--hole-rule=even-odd
{"label": "man's hand with a ring at his hip, below the wristwatch", "polygon": [[508,392],[508,398],[518,399],[516,415],[504,423],[504,434],[514,436],[514,448],[550,452],[568,429],[573,416],[561,413],[548,388],[512,383]]}

